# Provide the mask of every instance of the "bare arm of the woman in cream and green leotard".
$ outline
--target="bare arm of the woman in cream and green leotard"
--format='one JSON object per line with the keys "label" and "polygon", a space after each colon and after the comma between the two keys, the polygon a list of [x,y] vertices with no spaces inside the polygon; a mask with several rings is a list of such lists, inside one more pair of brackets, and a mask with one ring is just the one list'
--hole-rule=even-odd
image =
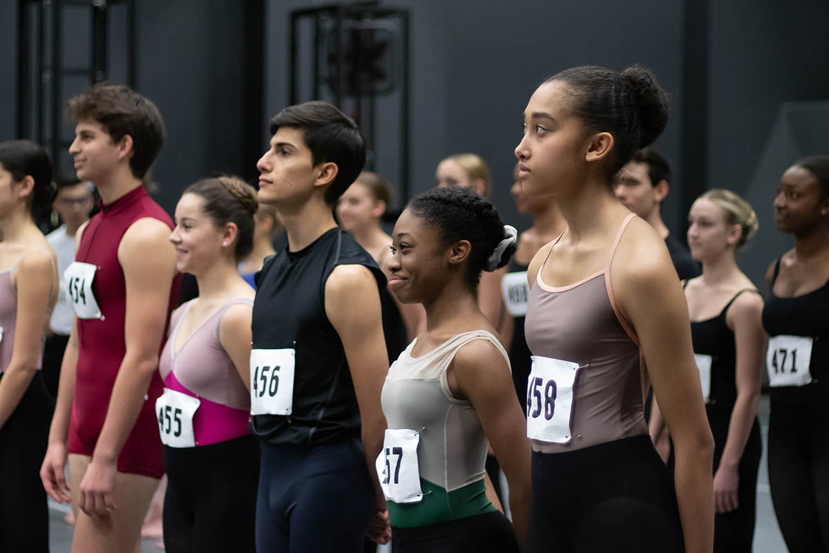
{"label": "bare arm of the woman in cream and green leotard", "polygon": [[526,541],[530,516],[530,441],[507,360],[490,342],[474,340],[455,354],[447,375],[450,389],[472,402],[510,487],[512,524],[518,543]]}

